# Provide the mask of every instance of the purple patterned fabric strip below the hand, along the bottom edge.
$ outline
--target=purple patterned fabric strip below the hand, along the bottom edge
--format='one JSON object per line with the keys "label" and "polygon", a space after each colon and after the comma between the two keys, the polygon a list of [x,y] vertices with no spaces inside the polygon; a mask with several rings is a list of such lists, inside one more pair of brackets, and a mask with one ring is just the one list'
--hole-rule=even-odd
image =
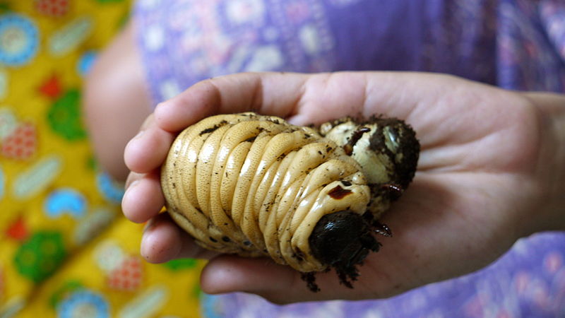
{"label": "purple patterned fabric strip below the hand, along the bottom edge", "polygon": [[273,305],[244,293],[203,297],[206,317],[565,317],[565,233],[520,240],[499,261],[387,300]]}

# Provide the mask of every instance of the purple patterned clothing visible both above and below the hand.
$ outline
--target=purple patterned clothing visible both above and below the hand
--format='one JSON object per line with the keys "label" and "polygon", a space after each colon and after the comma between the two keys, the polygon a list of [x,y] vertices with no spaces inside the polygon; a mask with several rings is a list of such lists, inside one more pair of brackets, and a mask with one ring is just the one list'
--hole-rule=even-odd
{"label": "purple patterned clothing visible both above and below the hand", "polygon": [[[451,73],[565,92],[564,0],[140,0],[155,105],[240,71]],[[203,296],[208,317],[565,317],[565,233],[522,239],[491,266],[388,300],[275,306]]]}

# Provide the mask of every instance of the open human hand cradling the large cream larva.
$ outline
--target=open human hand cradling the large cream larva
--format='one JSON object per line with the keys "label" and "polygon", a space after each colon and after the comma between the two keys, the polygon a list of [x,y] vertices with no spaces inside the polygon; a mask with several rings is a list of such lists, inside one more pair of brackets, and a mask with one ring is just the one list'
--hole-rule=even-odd
{"label": "open human hand cradling the large cream larva", "polygon": [[[211,114],[254,110],[292,124],[345,115],[405,119],[420,139],[417,175],[382,222],[394,236],[359,266],[354,289],[335,273],[319,273],[311,293],[300,273],[267,259],[218,255],[201,247],[166,214],[159,167],[174,136]],[[149,220],[141,254],[151,262],[210,259],[206,293],[245,291],[273,302],[386,298],[486,266],[519,237],[549,225],[548,158],[543,116],[519,93],[426,73],[242,73],[192,86],[158,105],[124,154],[133,171],[122,207]],[[549,165],[551,167],[552,165]],[[561,171],[562,172],[562,171]],[[551,190],[553,191],[553,190]],[[547,211],[546,211],[547,210]],[[559,218],[558,218],[559,219]]]}

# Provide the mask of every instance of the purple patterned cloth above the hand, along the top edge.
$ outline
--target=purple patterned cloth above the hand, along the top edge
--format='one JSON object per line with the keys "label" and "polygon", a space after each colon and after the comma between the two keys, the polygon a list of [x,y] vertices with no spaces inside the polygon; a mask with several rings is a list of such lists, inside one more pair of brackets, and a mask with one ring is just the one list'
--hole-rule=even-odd
{"label": "purple patterned cloth above the hand, along the top edge", "polygon": [[559,92],[564,6],[560,0],[142,0],[134,15],[156,105],[197,81],[240,71],[432,71]]}

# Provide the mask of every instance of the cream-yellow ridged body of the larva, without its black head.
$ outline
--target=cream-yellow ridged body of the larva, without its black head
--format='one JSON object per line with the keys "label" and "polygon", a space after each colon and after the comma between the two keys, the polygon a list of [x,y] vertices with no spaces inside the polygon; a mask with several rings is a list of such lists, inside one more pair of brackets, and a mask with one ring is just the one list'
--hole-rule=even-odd
{"label": "cream-yellow ridged body of the larva, without its black head", "polygon": [[[362,214],[371,199],[359,164],[336,143],[256,114],[190,126],[163,171],[167,209],[203,247],[270,255],[299,271],[325,269],[309,253],[317,221],[335,211]],[[351,194],[334,199],[335,187]]]}

